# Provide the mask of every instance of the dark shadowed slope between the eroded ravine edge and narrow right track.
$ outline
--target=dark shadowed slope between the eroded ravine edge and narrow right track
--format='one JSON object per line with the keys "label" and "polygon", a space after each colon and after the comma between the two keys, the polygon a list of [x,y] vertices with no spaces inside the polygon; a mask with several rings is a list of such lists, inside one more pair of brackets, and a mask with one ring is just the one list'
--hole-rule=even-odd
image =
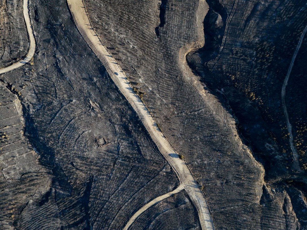
{"label": "dark shadowed slope between the eroded ravine edge and narrow right track", "polygon": [[[264,158],[263,164],[271,164],[271,168],[283,171],[282,174],[292,174],[286,167],[290,166],[297,171],[297,166],[294,165],[293,168],[292,154],[294,152],[295,155],[296,150],[289,145],[289,139],[293,138],[288,134],[280,92],[307,24],[305,1],[297,1],[295,4],[292,1],[251,1],[248,4],[224,1],[220,6],[216,4],[217,1],[209,2],[212,9],[216,10],[206,16],[204,22],[205,36],[211,46],[205,45],[194,56],[190,56],[191,66],[212,90],[223,89],[223,94],[239,119],[243,135],[252,144],[256,154]],[[219,9],[223,12],[218,11]],[[222,18],[220,25],[216,24],[218,15]],[[212,50],[213,45],[215,48]],[[198,63],[198,60],[202,63]],[[304,58],[300,60],[303,61]],[[293,75],[299,69],[294,68]],[[295,84],[287,86],[288,93],[296,87],[298,86]],[[288,98],[286,95],[285,97]],[[296,97],[300,97],[300,93],[286,101],[290,103],[291,99],[296,100],[301,114],[304,114],[302,108],[305,108],[305,100],[299,101]],[[250,102],[244,102],[241,106],[243,108],[239,108],[240,105],[236,104],[242,104],[244,98],[248,98]],[[236,103],[236,100],[241,103]],[[250,112],[251,114],[258,115],[241,116],[244,107],[248,106],[258,111]],[[246,111],[248,113],[251,109]],[[299,116],[298,119],[304,121],[306,117]],[[297,119],[293,125],[295,123],[299,123]],[[263,140],[262,136],[267,137]],[[295,138],[296,135],[293,136]],[[266,142],[272,147],[266,148]],[[302,151],[305,149],[304,145],[297,145],[295,148]],[[275,158],[276,155],[278,157]],[[266,157],[270,159],[266,160]],[[302,155],[300,158],[301,161],[304,159]],[[280,164],[282,167],[274,167]]]}

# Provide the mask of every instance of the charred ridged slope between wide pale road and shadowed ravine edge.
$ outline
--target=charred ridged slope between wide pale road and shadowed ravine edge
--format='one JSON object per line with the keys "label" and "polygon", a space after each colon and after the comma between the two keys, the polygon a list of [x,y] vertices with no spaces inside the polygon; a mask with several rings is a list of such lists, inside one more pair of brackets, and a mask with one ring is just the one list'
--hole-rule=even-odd
{"label": "charred ridged slope between wide pale road and shadowed ravine edge", "polygon": [[155,121],[204,185],[215,227],[260,229],[262,166],[239,139],[234,119],[185,62],[185,54],[204,43],[206,3],[84,3],[102,43],[146,93]]}

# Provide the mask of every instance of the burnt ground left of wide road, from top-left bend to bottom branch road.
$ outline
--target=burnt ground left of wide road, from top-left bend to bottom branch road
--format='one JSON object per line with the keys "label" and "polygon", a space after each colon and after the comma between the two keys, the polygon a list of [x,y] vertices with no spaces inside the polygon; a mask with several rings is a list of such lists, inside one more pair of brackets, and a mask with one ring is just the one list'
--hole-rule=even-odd
{"label": "burnt ground left of wide road, from top-left bend to bottom branch road", "polygon": [[7,116],[0,119],[1,224],[122,229],[178,179],[76,29],[66,1],[30,1],[29,8],[34,63],[0,76]]}

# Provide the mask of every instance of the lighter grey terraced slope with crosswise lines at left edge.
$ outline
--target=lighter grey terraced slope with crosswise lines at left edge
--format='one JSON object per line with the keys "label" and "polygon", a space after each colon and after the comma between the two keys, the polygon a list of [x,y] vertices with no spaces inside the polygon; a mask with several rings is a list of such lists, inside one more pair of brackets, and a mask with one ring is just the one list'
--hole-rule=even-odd
{"label": "lighter grey terraced slope with crosswise lines at left edge", "polygon": [[[51,184],[50,174],[39,164],[39,155],[23,134],[25,120],[13,92],[0,83],[1,229],[12,229],[15,222],[24,217],[25,207],[33,208],[34,203],[40,202]],[[46,210],[46,214],[48,212]],[[52,221],[51,218],[48,221]],[[19,224],[16,227],[22,226]]]}

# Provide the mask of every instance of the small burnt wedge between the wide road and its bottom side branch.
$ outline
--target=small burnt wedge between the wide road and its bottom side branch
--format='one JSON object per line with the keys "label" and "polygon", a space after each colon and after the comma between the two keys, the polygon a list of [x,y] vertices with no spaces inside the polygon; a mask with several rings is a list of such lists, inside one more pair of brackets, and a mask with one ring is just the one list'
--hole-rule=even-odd
{"label": "small burnt wedge between the wide road and its bottom side branch", "polygon": [[169,197],[139,216],[130,230],[200,230],[197,211],[185,191]]}

